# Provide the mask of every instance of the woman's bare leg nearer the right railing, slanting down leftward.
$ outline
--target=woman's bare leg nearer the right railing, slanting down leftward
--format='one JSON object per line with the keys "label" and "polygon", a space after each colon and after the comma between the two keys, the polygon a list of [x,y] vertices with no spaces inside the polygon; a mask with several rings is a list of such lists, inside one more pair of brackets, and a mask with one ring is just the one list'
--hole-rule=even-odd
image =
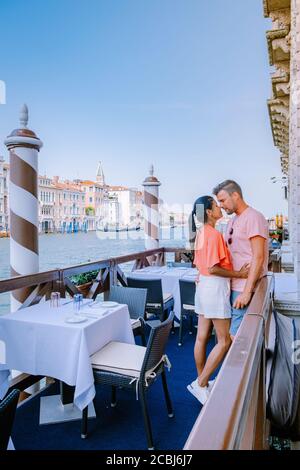
{"label": "woman's bare leg nearer the right railing, slanting down leftward", "polygon": [[208,385],[209,377],[218,367],[231,345],[229,334],[230,318],[218,320],[213,319],[213,324],[216,330],[218,342],[210,352],[205,367],[198,377],[200,387],[206,387]]}

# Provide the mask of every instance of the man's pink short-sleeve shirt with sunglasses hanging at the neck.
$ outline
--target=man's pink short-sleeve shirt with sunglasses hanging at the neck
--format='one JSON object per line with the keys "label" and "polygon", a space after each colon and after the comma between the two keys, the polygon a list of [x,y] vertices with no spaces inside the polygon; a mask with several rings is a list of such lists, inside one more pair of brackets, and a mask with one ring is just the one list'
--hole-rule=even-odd
{"label": "man's pink short-sleeve shirt with sunglasses hanging at the neck", "polygon": [[[231,229],[232,235],[230,235]],[[233,217],[227,226],[225,240],[231,238],[228,248],[231,254],[234,271],[239,271],[245,263],[250,263],[252,259],[251,238],[260,236],[265,239],[264,264],[261,277],[268,272],[269,257],[269,227],[268,222],[257,210],[247,207],[241,215]],[[237,292],[243,292],[246,279],[232,279],[231,288]]]}

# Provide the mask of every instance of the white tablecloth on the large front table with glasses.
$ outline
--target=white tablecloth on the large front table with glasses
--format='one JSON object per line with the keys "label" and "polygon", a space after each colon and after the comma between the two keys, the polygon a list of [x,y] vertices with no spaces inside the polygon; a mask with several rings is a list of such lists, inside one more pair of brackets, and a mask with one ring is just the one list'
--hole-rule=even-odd
{"label": "white tablecloth on the large front table with glasses", "polygon": [[[63,300],[64,301],[64,300]],[[8,389],[9,369],[45,375],[75,386],[79,409],[95,396],[90,355],[110,341],[134,343],[127,305],[95,310],[84,301],[82,315],[95,315],[83,323],[67,323],[72,303],[51,308],[50,302],[0,317],[0,341],[5,363],[0,364],[0,397]],[[102,313],[100,313],[102,312]]]}

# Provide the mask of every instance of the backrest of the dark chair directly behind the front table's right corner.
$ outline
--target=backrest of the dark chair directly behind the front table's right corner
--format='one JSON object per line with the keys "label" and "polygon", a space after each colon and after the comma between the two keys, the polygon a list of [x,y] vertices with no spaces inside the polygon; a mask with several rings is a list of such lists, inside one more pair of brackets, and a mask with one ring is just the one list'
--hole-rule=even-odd
{"label": "backrest of the dark chair directly behind the front table's right corner", "polygon": [[144,318],[146,310],[147,289],[111,286],[108,300],[127,304],[130,318]]}

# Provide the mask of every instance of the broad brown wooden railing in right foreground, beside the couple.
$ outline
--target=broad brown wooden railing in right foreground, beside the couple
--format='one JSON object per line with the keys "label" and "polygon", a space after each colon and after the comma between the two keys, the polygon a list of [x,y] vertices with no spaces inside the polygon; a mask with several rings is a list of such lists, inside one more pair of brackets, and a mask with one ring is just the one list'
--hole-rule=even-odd
{"label": "broad brown wooden railing in right foreground, beside the couple", "polygon": [[260,281],[185,450],[268,448],[265,349],[273,279]]}

